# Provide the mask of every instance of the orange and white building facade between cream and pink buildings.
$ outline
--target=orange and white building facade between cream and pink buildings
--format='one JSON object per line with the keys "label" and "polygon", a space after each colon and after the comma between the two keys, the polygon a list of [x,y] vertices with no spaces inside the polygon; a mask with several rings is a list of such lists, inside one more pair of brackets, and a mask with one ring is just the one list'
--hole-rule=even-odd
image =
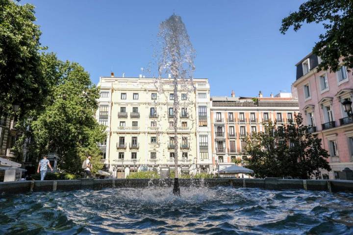
{"label": "orange and white building facade between cream and pink buildings", "polygon": [[211,98],[212,160],[217,168],[225,168],[237,162],[243,163],[245,137],[253,132],[264,131],[263,122],[277,121],[286,124],[299,112],[298,99],[290,93],[279,93],[275,97],[231,97]]}

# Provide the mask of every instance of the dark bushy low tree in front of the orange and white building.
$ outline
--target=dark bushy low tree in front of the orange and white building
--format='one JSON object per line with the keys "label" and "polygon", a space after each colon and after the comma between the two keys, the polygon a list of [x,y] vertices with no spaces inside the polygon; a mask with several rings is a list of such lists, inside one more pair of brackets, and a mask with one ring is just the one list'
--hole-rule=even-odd
{"label": "dark bushy low tree in front of the orange and white building", "polygon": [[269,121],[264,132],[247,138],[247,167],[255,177],[290,177],[310,179],[320,169],[331,170],[328,152],[321,147],[321,139],[309,134],[301,114],[295,115],[283,127]]}

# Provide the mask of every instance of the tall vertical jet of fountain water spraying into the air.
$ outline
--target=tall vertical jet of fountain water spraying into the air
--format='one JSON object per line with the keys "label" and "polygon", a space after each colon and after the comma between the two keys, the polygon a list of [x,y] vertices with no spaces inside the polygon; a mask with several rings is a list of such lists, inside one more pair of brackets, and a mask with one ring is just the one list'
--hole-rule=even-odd
{"label": "tall vertical jet of fountain water spraying into the air", "polygon": [[[180,195],[178,181],[178,137],[177,124],[179,113],[178,88],[192,87],[193,72],[195,71],[194,58],[195,50],[187,34],[185,24],[181,17],[173,14],[159,25],[158,37],[161,43],[160,58],[158,61],[158,78],[167,77],[171,74],[174,86],[174,159],[175,159],[175,179],[173,193]],[[160,84],[162,84],[160,82]]]}

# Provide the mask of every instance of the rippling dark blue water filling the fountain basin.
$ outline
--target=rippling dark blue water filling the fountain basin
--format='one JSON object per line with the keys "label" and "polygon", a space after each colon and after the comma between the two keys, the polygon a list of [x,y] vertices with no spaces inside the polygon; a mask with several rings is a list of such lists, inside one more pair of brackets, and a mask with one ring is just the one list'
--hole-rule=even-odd
{"label": "rippling dark blue water filling the fountain basin", "polygon": [[106,188],[0,198],[0,234],[353,234],[353,194]]}

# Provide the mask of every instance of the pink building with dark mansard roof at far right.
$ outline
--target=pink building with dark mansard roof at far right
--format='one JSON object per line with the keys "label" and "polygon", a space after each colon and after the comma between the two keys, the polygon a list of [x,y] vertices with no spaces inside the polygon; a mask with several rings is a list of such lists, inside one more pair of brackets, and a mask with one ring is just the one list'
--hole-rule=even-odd
{"label": "pink building with dark mansard roof at far right", "polygon": [[[321,172],[323,178],[339,179],[346,167],[353,169],[353,118],[342,102],[353,100],[353,75],[342,66],[340,71],[317,71],[320,57],[310,53],[297,67],[299,108],[305,125],[322,139],[328,150],[332,171]],[[352,109],[350,105],[348,109]],[[342,177],[341,177],[342,178]]]}

